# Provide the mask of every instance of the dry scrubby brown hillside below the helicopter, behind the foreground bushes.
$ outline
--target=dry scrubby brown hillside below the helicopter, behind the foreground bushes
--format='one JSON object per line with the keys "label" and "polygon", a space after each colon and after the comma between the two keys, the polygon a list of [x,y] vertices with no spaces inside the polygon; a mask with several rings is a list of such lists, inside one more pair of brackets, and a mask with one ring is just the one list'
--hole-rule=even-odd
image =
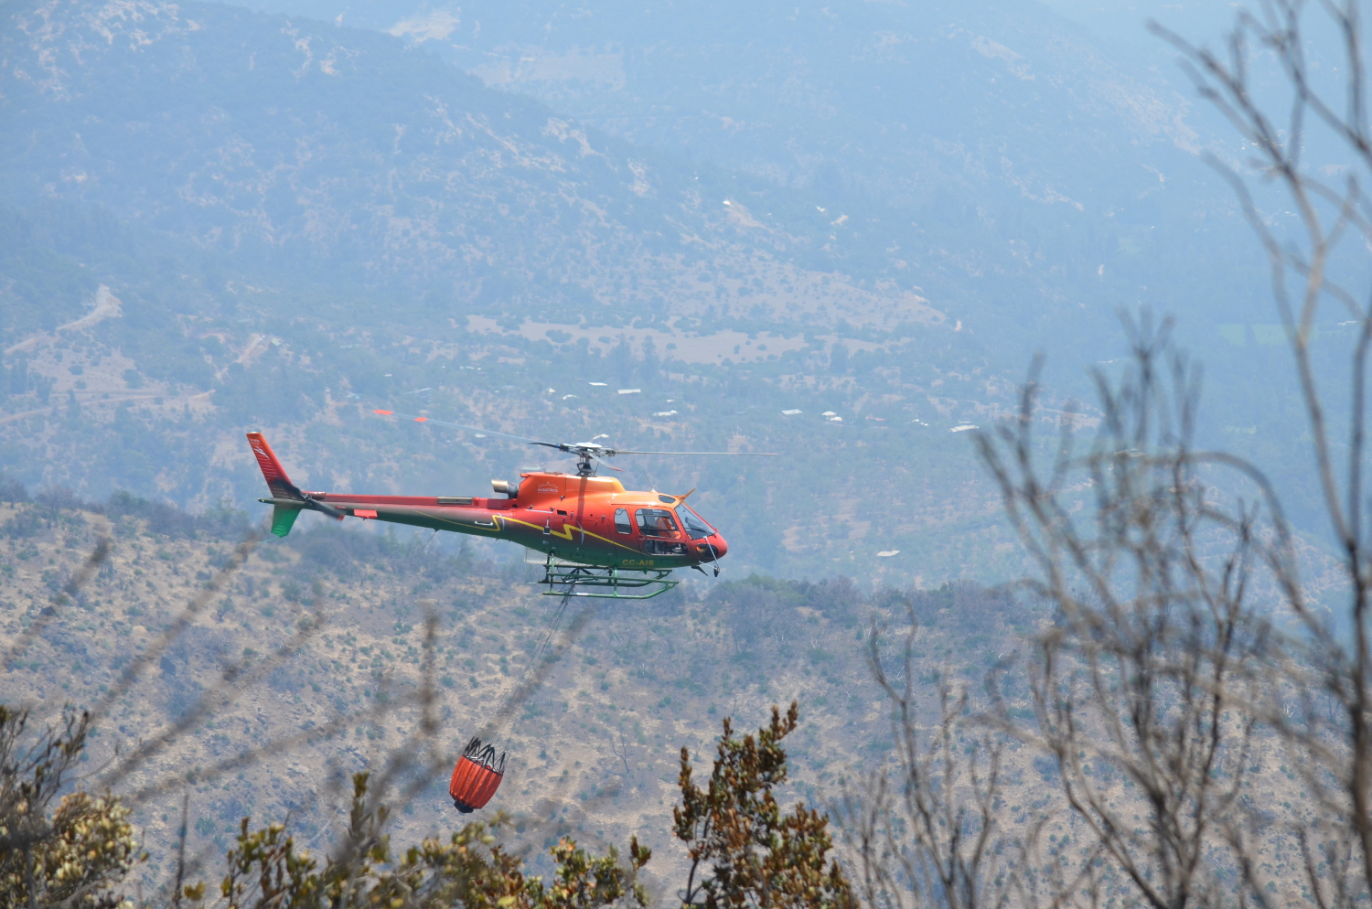
{"label": "dry scrubby brown hillside below the helicopter, behind the foreground bushes", "polygon": [[[85,784],[113,783],[137,803],[147,886],[174,861],[182,797],[188,851],[217,880],[243,816],[288,819],[321,847],[346,820],[346,773],[381,771],[397,754],[421,762],[425,610],[438,620],[442,766],[397,773],[395,842],[462,820],[446,776],[465,739],[494,724],[510,758],[487,812],[514,814],[535,851],[564,832],[597,847],[638,834],[656,851],[660,894],[679,886],[683,861],[670,838],[683,744],[708,754],[723,716],[749,728],[797,698],[785,801],[831,799],[890,754],[885,701],[863,661],[870,621],[900,621],[914,605],[915,668],[930,691],[941,670],[980,681],[1034,621],[973,587],[866,595],[845,581],[757,577],[689,581],[648,602],[573,602],[556,618],[560,601],[525,584],[532,569],[520,563],[438,554],[421,537],[300,528],[233,570],[239,540],[206,529],[0,505],[4,698],[41,718],[63,702],[97,712]],[[108,557],[63,595],[100,536]],[[545,642],[539,664],[550,665],[530,673]],[[1022,698],[1014,675],[1010,692]],[[499,723],[531,679],[536,688]],[[1264,781],[1273,805],[1295,801],[1284,769]],[[1052,766],[1028,749],[1010,754],[1006,784],[1006,823],[1048,816],[1048,831],[1084,832],[1061,812]],[[1122,780],[1113,786],[1128,798]]]}

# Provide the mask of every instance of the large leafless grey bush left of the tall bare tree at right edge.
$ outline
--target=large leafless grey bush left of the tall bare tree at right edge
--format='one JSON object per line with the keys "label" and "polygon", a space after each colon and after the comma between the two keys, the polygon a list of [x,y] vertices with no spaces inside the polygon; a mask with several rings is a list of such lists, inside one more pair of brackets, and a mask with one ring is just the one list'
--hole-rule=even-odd
{"label": "large leafless grey bush left of the tall bare tree at right edge", "polygon": [[1084,451],[1065,425],[1043,463],[1033,381],[1018,420],[978,439],[1040,569],[1025,587],[1054,609],[1024,661],[1034,717],[996,720],[1054,761],[1091,832],[1051,902],[1224,905],[1242,898],[1229,840],[1257,794],[1251,706],[1287,653],[1269,609],[1295,563],[1262,476],[1194,447],[1198,383],[1170,325],[1126,329],[1131,365],[1096,374]]}

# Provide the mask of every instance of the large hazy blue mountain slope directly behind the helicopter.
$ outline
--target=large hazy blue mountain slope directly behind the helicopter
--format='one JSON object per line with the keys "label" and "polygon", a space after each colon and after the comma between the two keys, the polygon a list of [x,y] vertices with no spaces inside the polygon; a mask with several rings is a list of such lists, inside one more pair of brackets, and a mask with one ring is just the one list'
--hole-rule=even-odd
{"label": "large hazy blue mountain slope directly behind the helicopter", "polygon": [[[1089,259],[1073,271],[982,243],[988,225],[1037,228],[967,199],[955,207],[970,218],[897,241],[899,193],[862,217],[814,204],[811,188],[606,137],[427,47],[235,7],[12,7],[0,463],[32,484],[196,507],[261,495],[246,429],[336,489],[471,494],[530,463],[527,448],[368,415],[418,404],[538,439],[783,452],[627,465],[638,488],[700,488],[744,570],[1002,580],[1022,555],[955,431],[1008,413],[1044,332],[1072,347],[1051,361],[1048,424],[1083,388],[1078,365],[1118,351],[1114,307],[1137,287],[1110,284],[1099,248],[1192,295],[1224,276],[1169,269],[1174,233],[1122,223],[1081,248],[1081,225],[1041,234]],[[1006,64],[971,53],[969,85]],[[1029,129],[1033,97],[1014,97]],[[108,318],[86,318],[110,299]],[[1216,432],[1251,425],[1238,414],[1257,383],[1292,393],[1265,352],[1232,359],[1261,376],[1221,383]]]}

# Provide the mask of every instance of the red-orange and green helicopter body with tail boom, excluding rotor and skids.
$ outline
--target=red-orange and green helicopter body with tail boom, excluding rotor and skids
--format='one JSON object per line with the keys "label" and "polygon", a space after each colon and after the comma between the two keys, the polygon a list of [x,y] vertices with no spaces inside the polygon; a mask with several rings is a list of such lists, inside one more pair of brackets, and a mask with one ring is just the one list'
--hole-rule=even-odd
{"label": "red-orange and green helicopter body with tail boom, excluding rotor and skids", "polygon": [[[718,562],[729,551],[685,496],[626,491],[613,477],[521,473],[512,498],[303,495],[343,516],[509,540],[561,562],[598,568],[691,568]],[[300,507],[292,499],[263,502]]]}

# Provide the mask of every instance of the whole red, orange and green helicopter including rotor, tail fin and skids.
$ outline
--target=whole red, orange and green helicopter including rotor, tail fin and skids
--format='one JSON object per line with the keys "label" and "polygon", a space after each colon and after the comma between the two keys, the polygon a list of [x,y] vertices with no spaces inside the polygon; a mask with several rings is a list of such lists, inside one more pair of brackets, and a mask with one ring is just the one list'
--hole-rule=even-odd
{"label": "whole red, orange and green helicopter including rotor, tail fin and skids", "polygon": [[[406,417],[391,410],[375,414]],[[428,417],[410,417],[461,429]],[[310,492],[291,483],[261,432],[247,433],[272,492],[258,499],[273,506],[272,533],[285,536],[300,511],[318,511],[335,520],[347,517],[407,524],[434,531],[469,533],[509,540],[525,547],[525,561],[543,566],[543,594],[550,596],[602,596],[650,599],[678,584],[671,573],[679,568],[705,573],[705,565],[719,576],[719,559],[729,543],[701,518],[686,495],[624,489],[615,477],[597,476],[609,458],[635,455],[731,455],[775,457],[777,452],[742,451],[628,451],[595,441],[539,441],[509,433],[482,431],[532,446],[553,448],[576,459],[575,473],[527,470],[519,481],[491,480],[504,498],[480,496],[399,496],[351,492]]]}

